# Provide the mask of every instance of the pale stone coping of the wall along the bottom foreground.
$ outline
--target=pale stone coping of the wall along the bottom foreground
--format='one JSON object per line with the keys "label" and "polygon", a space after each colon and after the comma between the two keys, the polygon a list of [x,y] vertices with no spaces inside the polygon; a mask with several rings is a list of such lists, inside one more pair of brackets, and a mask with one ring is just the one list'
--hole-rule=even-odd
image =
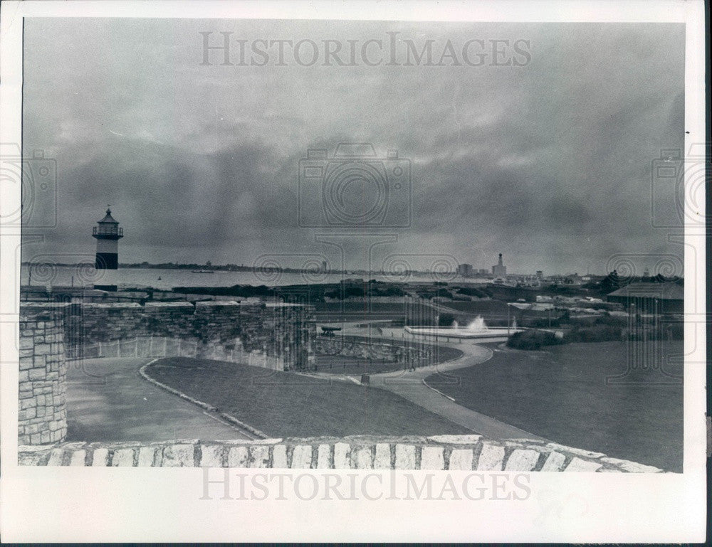
{"label": "pale stone coping of the wall along the bottom foreground", "polygon": [[21,465],[451,469],[513,472],[646,472],[661,469],[555,443],[481,435],[315,437],[258,441],[174,440],[19,447]]}

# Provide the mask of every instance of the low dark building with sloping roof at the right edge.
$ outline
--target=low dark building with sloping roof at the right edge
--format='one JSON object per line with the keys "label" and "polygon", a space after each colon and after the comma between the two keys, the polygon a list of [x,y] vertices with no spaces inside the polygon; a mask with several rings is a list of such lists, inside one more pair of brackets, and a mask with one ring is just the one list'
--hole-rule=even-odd
{"label": "low dark building with sloping roof at the right edge", "polygon": [[607,295],[630,312],[681,314],[685,309],[685,290],[676,283],[631,283]]}

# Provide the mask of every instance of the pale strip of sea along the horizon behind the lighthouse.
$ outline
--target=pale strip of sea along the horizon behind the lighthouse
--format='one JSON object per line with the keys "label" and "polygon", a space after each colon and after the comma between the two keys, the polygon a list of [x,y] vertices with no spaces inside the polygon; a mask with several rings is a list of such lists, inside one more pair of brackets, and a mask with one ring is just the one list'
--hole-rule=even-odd
{"label": "pale strip of sea along the horizon behind the lighthouse", "polygon": [[[391,282],[434,282],[454,281],[458,276],[451,274],[403,273],[401,275],[369,275],[367,273],[325,273],[325,272],[231,272],[212,270],[212,273],[173,268],[119,268],[112,272],[115,284],[119,287],[152,287],[159,290],[171,290],[173,287],[231,287],[233,285],[266,285],[280,287],[284,285],[319,285],[338,283],[342,280],[362,279]],[[63,285],[90,287],[101,285],[103,271],[95,270],[93,265],[58,266],[51,264],[23,264],[21,267],[21,285]]]}

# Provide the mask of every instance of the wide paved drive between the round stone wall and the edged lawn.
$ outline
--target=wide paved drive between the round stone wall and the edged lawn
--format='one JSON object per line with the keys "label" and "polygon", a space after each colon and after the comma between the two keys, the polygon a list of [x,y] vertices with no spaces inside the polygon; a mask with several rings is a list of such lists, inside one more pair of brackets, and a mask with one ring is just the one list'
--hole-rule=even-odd
{"label": "wide paved drive between the round stone wall and the edged lawn", "polygon": [[250,438],[197,405],[141,378],[139,368],[151,360],[69,361],[67,440],[152,442]]}

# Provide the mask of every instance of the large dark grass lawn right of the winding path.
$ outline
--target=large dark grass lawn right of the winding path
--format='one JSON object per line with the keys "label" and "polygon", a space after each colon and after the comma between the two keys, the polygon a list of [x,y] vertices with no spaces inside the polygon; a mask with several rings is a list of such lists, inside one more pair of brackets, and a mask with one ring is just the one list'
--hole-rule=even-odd
{"label": "large dark grass lawn right of the winding path", "polygon": [[[661,347],[664,358],[682,353],[681,341]],[[624,378],[628,385],[607,385],[627,363],[620,342],[568,344],[496,351],[481,365],[426,381],[467,408],[555,442],[681,472],[682,386],[652,385],[661,373],[640,370]],[[681,363],[664,368],[682,374]]]}

